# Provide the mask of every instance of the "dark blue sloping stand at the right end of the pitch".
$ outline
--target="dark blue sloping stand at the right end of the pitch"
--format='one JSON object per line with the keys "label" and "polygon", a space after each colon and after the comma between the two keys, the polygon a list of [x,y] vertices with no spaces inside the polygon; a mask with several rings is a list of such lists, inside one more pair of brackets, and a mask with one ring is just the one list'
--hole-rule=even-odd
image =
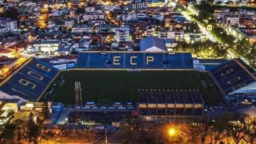
{"label": "dark blue sloping stand at the right end of the pitch", "polygon": [[229,60],[209,73],[224,95],[256,81],[255,71],[241,59]]}

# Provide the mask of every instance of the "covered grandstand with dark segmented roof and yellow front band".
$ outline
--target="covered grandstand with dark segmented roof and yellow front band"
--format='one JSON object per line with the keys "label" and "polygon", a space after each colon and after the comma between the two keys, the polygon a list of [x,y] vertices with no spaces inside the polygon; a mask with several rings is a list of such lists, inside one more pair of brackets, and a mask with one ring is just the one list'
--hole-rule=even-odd
{"label": "covered grandstand with dark segmented roof and yellow front band", "polygon": [[142,117],[196,116],[203,112],[204,101],[199,92],[141,91],[139,112]]}

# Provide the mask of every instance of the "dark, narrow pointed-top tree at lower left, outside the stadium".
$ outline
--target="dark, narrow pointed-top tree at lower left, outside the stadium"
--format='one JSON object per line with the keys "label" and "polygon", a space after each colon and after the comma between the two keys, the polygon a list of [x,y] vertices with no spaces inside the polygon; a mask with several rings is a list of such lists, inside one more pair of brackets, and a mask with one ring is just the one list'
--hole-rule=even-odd
{"label": "dark, narrow pointed-top tree at lower left, outside the stadium", "polygon": [[29,118],[26,122],[26,134],[29,141],[37,144],[37,139],[41,135],[41,127],[34,122],[32,112],[30,112]]}

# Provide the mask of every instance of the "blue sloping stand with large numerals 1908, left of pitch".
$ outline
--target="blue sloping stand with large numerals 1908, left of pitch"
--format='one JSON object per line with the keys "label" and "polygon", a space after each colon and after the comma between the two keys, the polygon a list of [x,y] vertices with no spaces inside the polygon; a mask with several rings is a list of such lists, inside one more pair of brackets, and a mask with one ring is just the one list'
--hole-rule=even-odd
{"label": "blue sloping stand with large numerals 1908, left of pitch", "polygon": [[30,58],[0,82],[0,91],[9,96],[37,101],[58,74],[58,69]]}

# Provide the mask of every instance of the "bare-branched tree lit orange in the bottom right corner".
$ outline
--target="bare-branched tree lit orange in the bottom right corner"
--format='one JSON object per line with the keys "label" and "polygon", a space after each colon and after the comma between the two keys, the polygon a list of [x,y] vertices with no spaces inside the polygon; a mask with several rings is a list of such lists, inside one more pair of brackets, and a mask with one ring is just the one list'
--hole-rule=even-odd
{"label": "bare-branched tree lit orange in the bottom right corner", "polygon": [[246,136],[255,129],[255,121],[250,116],[235,114],[234,119],[227,123],[227,136],[231,137],[236,144],[239,144]]}

